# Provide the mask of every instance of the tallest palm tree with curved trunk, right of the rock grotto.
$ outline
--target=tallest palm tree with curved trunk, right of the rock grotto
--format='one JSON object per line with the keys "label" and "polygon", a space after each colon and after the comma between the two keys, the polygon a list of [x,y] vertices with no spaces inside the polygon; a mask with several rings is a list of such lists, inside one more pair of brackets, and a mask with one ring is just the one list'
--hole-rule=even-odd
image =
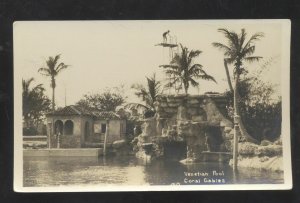
{"label": "tallest palm tree with curved trunk, right of the rock grotto", "polygon": [[[261,37],[264,36],[263,33],[255,33],[252,35],[248,41],[246,40],[247,33],[245,29],[241,30],[240,34],[237,34],[235,32],[228,31],[227,29],[221,28],[218,29],[219,32],[223,33],[225,38],[227,39],[227,44],[222,44],[219,42],[214,42],[213,46],[216,48],[219,48],[220,50],[224,51],[224,66],[226,70],[226,75],[228,79],[229,87],[232,87],[230,75],[228,71],[227,64],[233,64],[234,65],[234,89],[230,88],[231,91],[233,90],[234,93],[234,110],[235,115],[240,116],[240,108],[239,108],[239,94],[238,94],[238,88],[240,83],[240,75],[245,73],[246,69],[243,66],[243,62],[252,63],[255,61],[259,61],[262,57],[260,56],[253,56],[255,52],[255,45],[254,42],[259,40]],[[256,142],[256,140],[250,136],[241,119],[239,119],[239,129],[243,137],[246,138],[247,141]]]}

